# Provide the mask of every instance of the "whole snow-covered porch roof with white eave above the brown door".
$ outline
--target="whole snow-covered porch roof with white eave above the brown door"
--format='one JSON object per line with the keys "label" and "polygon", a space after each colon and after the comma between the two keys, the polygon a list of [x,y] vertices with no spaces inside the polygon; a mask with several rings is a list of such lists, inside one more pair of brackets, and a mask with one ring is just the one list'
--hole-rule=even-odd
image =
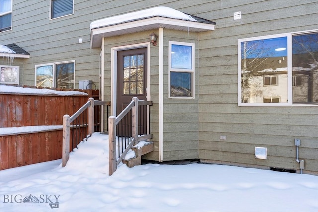
{"label": "whole snow-covered porch roof with white eave above the brown door", "polygon": [[169,7],[158,6],[92,22],[90,24],[91,47],[100,47],[103,37],[158,29],[160,27],[181,31],[203,32],[214,30],[214,25],[215,22]]}

